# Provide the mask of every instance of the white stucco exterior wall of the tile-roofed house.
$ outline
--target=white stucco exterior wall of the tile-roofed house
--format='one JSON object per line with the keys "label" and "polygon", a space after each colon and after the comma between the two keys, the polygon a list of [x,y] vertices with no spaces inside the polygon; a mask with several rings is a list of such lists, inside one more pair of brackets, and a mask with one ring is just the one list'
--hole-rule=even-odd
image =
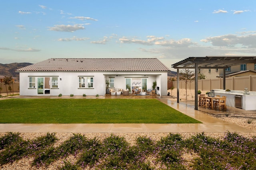
{"label": "white stucco exterior wall of the tile-roofed house", "polygon": [[[58,77],[58,88],[50,88],[50,94],[38,94],[37,88],[29,88],[29,77]],[[78,77],[93,77],[93,88],[78,88]],[[115,88],[126,88],[126,77],[148,78],[148,88],[152,88],[153,81],[157,81],[157,94],[167,96],[167,72],[20,72],[20,96],[80,96],[104,95],[106,80],[115,78]],[[61,80],[60,80],[61,79]],[[48,83],[48,82],[45,82]]]}

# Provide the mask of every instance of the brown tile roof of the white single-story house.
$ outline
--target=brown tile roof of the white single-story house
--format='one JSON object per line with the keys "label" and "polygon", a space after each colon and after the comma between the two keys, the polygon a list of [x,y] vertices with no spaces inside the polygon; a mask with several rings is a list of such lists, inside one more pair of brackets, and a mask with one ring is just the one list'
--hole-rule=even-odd
{"label": "brown tile roof of the white single-story house", "polygon": [[48,59],[16,70],[23,71],[170,71],[156,58]]}

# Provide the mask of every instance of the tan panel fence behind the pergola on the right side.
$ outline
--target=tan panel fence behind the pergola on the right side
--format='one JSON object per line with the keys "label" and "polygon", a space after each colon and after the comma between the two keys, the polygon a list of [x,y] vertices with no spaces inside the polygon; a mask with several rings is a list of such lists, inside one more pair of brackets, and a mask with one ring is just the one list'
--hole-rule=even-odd
{"label": "tan panel fence behind the pergola on the right side", "polygon": [[[177,82],[173,82],[174,88],[177,88]],[[256,76],[226,77],[226,89],[244,90],[247,87],[249,91],[256,92]],[[185,89],[185,82],[179,81],[179,88]],[[195,82],[188,82],[187,89],[194,90]],[[212,89],[223,89],[223,78],[201,79],[198,80],[198,90],[210,91]]]}

